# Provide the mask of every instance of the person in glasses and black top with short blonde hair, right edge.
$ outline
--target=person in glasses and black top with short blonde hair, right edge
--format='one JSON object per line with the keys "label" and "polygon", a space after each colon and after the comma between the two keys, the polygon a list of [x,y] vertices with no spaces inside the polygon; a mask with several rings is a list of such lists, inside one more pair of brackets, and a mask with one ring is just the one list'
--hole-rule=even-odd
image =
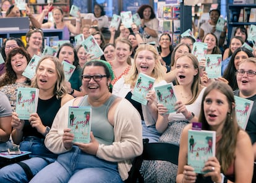
{"label": "person in glasses and black top with short blonde hair, right edge", "polygon": [[256,58],[249,57],[240,62],[236,72],[238,90],[234,95],[254,101],[252,111],[250,112],[249,121],[246,126],[246,132],[252,141],[254,149],[254,160],[256,160]]}

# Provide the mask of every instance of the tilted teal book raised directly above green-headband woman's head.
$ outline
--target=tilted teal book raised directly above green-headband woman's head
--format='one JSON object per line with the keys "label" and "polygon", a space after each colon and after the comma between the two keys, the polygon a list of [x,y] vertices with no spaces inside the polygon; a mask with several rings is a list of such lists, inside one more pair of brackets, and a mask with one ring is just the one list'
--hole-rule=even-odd
{"label": "tilted teal book raised directly above green-headband woman's head", "polygon": [[88,36],[88,38],[82,42],[82,45],[86,53],[92,54],[94,57],[100,57],[104,54],[92,35]]}

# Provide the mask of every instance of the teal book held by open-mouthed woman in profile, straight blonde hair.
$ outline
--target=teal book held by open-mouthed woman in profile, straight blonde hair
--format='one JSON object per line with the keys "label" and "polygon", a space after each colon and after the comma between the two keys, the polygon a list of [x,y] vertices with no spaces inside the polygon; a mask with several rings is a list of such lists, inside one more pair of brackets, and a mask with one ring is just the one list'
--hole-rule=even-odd
{"label": "teal book held by open-mouthed woman in profile, straight blonde hair", "polygon": [[174,92],[173,83],[167,83],[165,85],[154,87],[158,103],[161,103],[168,109],[168,113],[174,113],[174,104],[177,101]]}

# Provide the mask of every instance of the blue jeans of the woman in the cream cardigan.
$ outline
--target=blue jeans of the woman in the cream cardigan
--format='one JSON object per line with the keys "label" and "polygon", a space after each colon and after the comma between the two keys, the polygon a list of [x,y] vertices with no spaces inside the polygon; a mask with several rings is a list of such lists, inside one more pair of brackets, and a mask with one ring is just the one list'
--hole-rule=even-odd
{"label": "blue jeans of the woman in the cream cardigan", "polygon": [[117,163],[101,160],[73,146],[42,169],[30,182],[122,182]]}

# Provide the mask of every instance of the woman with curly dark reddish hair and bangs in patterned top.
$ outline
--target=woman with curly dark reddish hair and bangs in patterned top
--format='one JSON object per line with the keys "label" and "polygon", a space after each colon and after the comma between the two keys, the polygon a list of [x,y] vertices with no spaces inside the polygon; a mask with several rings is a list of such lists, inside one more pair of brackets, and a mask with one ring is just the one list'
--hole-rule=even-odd
{"label": "woman with curly dark reddish hair and bangs in patterned top", "polygon": [[8,97],[15,111],[17,88],[30,87],[30,80],[22,75],[30,61],[30,54],[23,48],[12,49],[6,59],[6,73],[0,77],[0,91]]}

